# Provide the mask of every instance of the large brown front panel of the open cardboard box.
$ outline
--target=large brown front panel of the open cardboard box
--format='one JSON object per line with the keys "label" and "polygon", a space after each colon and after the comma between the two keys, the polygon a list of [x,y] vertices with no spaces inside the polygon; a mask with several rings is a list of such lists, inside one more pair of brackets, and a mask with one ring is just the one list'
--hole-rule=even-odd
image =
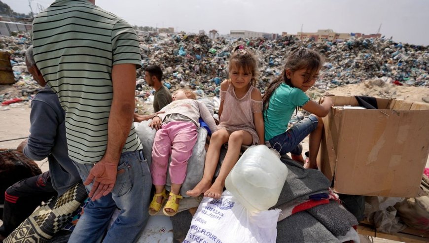
{"label": "large brown front panel of the open cardboard box", "polygon": [[388,116],[378,110],[344,110],[335,191],[385,197],[420,193],[429,153],[424,119],[429,111],[391,112]]}

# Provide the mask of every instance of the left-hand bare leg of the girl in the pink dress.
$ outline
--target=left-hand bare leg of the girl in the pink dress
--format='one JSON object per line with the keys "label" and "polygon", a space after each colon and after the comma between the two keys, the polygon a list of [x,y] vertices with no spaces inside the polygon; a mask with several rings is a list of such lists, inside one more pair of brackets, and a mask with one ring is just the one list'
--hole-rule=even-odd
{"label": "left-hand bare leg of the girl in the pink dress", "polygon": [[220,148],[228,141],[228,138],[229,133],[224,129],[219,129],[212,134],[206,155],[206,162],[204,164],[203,178],[194,187],[194,189],[187,191],[186,195],[190,197],[198,197],[201,193],[205,193],[210,186],[212,186],[212,179],[219,161]]}

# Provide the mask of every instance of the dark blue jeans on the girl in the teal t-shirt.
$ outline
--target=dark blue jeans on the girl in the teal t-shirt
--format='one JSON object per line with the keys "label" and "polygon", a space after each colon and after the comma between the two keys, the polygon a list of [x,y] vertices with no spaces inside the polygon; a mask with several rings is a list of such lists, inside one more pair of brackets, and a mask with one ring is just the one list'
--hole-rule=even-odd
{"label": "dark blue jeans on the girl in the teal t-shirt", "polygon": [[270,139],[270,145],[281,155],[288,152],[294,155],[301,155],[302,146],[298,146],[299,143],[316,129],[318,123],[319,121],[314,115],[304,117],[304,119],[287,129],[285,133]]}

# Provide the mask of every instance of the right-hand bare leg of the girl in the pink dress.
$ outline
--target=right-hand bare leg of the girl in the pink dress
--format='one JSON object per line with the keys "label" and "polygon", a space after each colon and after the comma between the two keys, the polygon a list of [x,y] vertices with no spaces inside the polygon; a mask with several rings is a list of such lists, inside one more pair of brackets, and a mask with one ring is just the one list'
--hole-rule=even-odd
{"label": "right-hand bare leg of the girl in the pink dress", "polygon": [[217,176],[210,189],[204,193],[204,196],[214,199],[220,198],[223,187],[225,186],[226,176],[231,172],[232,168],[238,161],[241,145],[250,145],[252,141],[252,136],[246,131],[236,131],[231,133],[228,140],[228,151],[226,152],[225,159],[220,167],[219,176]]}

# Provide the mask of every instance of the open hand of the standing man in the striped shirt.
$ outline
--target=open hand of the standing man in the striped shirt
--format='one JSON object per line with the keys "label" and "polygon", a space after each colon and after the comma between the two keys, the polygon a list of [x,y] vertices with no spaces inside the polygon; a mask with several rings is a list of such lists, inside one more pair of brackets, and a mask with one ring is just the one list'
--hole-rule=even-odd
{"label": "open hand of the standing man in the striped shirt", "polygon": [[117,169],[117,164],[108,163],[103,158],[89,171],[89,175],[83,184],[86,186],[94,181],[88,195],[92,201],[98,200],[112,191],[116,182]]}

